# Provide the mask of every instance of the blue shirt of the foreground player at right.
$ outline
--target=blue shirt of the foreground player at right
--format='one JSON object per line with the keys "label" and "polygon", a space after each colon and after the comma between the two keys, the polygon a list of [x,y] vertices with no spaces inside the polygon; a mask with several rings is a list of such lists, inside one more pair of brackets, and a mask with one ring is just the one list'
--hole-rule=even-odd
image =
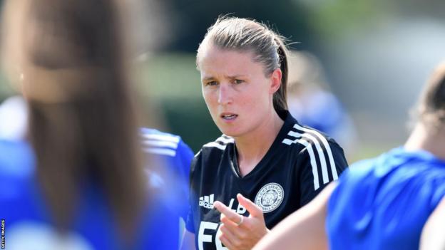
{"label": "blue shirt of the foreground player at right", "polygon": [[357,162],[327,209],[331,249],[419,249],[421,230],[445,196],[445,162],[402,147]]}

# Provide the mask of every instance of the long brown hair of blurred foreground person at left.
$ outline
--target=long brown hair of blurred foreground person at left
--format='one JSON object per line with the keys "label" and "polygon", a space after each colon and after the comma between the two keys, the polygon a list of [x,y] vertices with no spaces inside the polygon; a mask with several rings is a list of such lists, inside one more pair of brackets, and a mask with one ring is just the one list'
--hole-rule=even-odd
{"label": "long brown hair of blurred foreground person at left", "polygon": [[126,236],[145,198],[116,5],[112,0],[9,4],[10,15],[22,16],[21,26],[14,27],[20,32],[15,49],[29,105],[29,139],[56,227],[72,226],[81,184],[93,181]]}

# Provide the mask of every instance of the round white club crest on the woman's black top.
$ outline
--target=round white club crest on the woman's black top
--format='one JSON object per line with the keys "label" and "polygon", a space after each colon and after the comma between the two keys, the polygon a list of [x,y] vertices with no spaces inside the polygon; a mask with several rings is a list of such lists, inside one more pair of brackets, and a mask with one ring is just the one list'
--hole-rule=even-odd
{"label": "round white club crest on the woman's black top", "polygon": [[272,212],[280,206],[285,190],[278,183],[265,184],[255,197],[255,204],[261,207],[263,213]]}

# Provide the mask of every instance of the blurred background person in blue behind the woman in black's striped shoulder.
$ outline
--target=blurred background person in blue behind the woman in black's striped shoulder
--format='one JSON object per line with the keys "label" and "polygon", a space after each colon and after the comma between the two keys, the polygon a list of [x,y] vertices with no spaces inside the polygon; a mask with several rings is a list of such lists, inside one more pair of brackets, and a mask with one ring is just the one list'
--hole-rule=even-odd
{"label": "blurred background person in blue behind the woman in black's striped shoulder", "polygon": [[330,90],[319,60],[307,51],[292,51],[289,56],[287,105],[302,124],[335,138],[348,157],[357,145],[352,118]]}

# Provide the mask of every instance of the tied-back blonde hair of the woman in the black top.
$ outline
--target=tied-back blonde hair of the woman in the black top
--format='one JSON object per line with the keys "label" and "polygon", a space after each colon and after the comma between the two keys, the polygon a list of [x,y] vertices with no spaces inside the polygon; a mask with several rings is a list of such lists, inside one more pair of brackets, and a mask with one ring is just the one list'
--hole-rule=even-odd
{"label": "tied-back blonde hair of the woman in the black top", "polygon": [[203,42],[200,43],[197,54],[197,66],[199,67],[200,53],[203,46],[208,43],[218,48],[234,51],[251,51],[253,60],[262,63],[265,74],[270,75],[275,69],[282,71],[280,89],[273,95],[275,110],[287,110],[287,48],[284,38],[264,24],[255,20],[240,19],[236,17],[220,17],[213,26],[208,29]]}

